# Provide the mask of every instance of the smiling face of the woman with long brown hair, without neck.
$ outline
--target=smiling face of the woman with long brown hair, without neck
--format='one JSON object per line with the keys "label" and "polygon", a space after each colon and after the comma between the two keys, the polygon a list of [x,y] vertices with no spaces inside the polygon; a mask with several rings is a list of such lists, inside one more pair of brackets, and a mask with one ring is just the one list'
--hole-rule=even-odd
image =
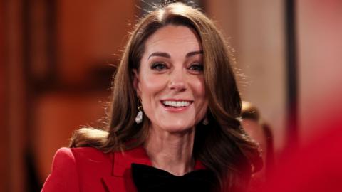
{"label": "smiling face of the woman with long brown hair, without neck", "polygon": [[145,42],[134,85],[152,129],[182,132],[207,112],[202,46],[195,31],[168,25]]}

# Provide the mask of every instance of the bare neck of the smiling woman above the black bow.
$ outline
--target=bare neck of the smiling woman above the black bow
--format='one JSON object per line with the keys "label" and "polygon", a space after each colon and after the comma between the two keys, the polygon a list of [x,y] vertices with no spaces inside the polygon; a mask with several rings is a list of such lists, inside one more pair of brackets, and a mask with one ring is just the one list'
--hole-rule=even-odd
{"label": "bare neck of the smiling woman above the black bow", "polygon": [[192,171],[195,161],[192,149],[195,128],[182,133],[170,133],[161,129],[150,129],[145,150],[152,166],[182,176]]}

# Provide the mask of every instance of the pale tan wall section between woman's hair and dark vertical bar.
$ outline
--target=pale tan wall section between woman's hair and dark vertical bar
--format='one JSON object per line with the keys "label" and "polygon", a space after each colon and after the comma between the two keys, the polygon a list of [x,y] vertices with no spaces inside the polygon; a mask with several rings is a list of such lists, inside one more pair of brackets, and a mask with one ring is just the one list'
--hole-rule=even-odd
{"label": "pale tan wall section between woman's hair and dark vertical bar", "polygon": [[286,129],[283,1],[206,2],[207,13],[235,50],[242,99],[257,105],[281,151]]}

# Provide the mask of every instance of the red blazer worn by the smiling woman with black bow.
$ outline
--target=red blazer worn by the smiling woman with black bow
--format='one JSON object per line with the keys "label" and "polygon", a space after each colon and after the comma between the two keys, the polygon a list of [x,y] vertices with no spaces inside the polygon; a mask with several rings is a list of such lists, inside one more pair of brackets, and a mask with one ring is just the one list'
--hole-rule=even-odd
{"label": "red blazer worn by the smiling woman with black bow", "polygon": [[[91,147],[61,148],[53,158],[51,174],[41,191],[135,192],[130,170],[132,163],[151,166],[142,146],[110,154]],[[205,167],[197,161],[196,169]]]}

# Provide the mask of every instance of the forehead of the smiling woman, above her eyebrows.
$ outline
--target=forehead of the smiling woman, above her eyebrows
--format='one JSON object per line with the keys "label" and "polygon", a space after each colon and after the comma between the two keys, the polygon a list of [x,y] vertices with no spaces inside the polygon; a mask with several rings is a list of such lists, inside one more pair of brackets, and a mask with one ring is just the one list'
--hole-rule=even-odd
{"label": "forehead of the smiling woman, above her eyebrows", "polygon": [[147,54],[155,51],[172,53],[196,50],[202,50],[199,37],[192,28],[187,26],[164,26],[147,38],[145,43]]}

